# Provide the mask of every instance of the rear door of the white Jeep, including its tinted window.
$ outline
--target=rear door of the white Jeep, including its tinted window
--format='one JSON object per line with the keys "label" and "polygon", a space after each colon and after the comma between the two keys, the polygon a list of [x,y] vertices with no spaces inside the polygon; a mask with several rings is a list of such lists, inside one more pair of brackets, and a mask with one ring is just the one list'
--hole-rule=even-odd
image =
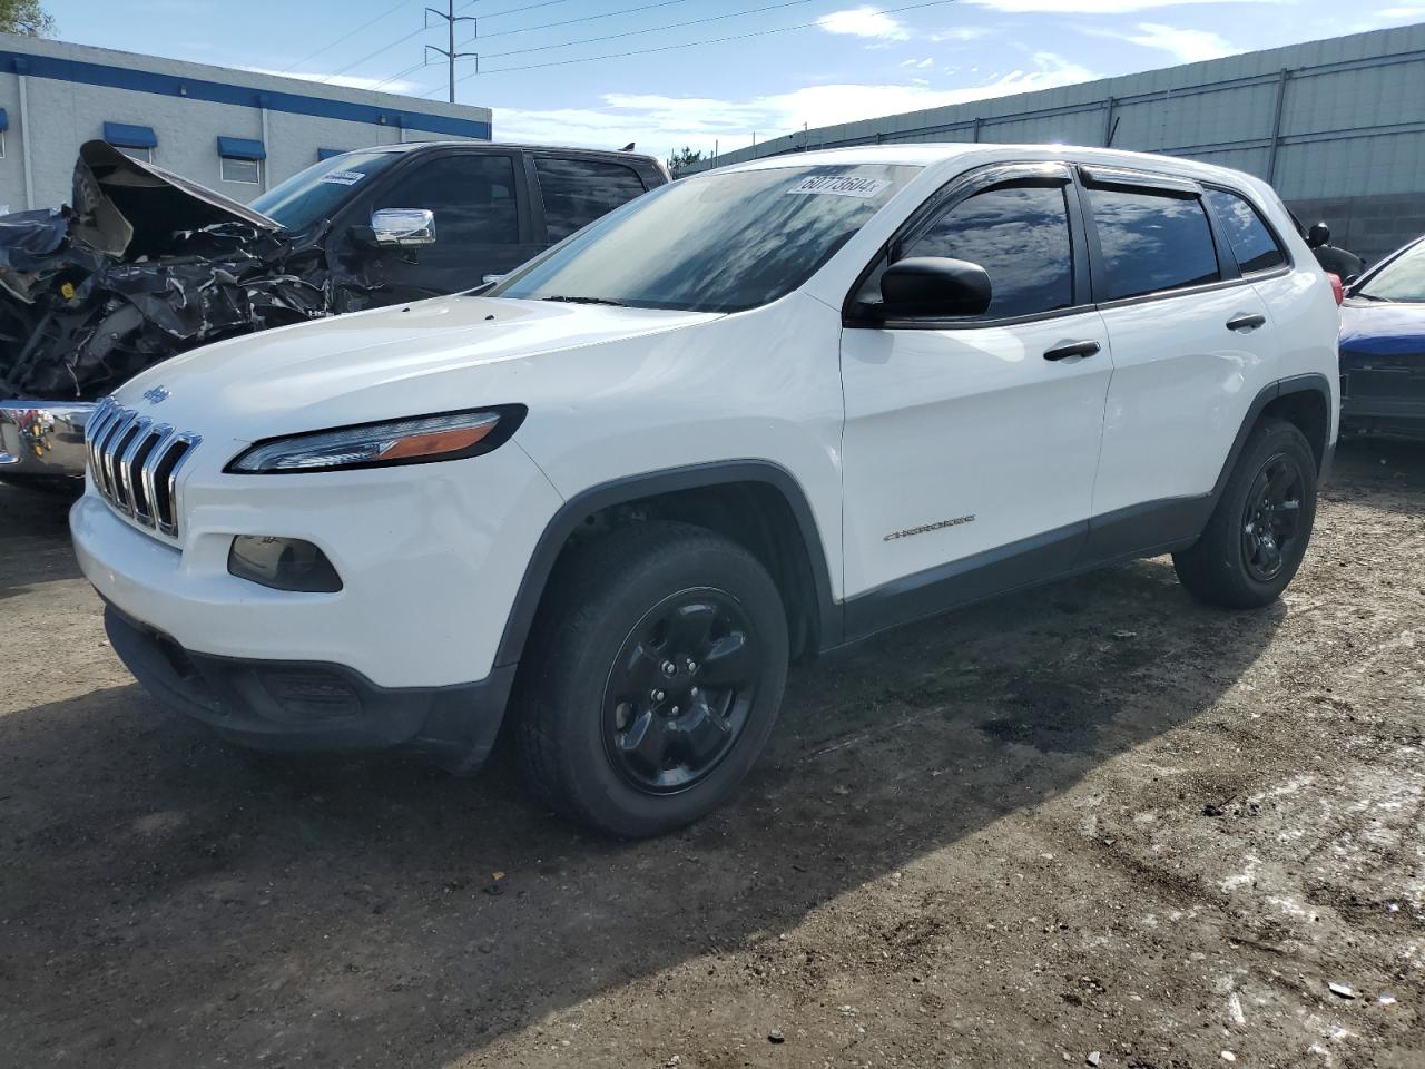
{"label": "rear door of the white Jeep, including its tinted window", "polygon": [[[1275,378],[1267,305],[1243,278],[1200,185],[1096,168],[1083,168],[1082,180],[1114,366],[1096,526],[1113,530],[1106,520],[1147,505],[1196,516],[1177,506],[1213,489],[1253,399]],[[1150,542],[1194,533],[1141,523],[1134,532]]]}

